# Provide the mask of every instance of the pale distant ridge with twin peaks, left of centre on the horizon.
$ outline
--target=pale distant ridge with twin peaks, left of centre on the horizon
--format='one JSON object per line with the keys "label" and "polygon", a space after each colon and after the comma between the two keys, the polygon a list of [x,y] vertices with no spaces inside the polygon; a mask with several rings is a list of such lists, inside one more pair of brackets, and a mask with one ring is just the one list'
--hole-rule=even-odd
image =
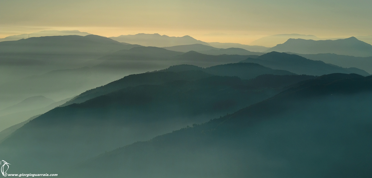
{"label": "pale distant ridge with twin peaks, left of centre on the horizon", "polygon": [[154,34],[138,33],[136,35],[120,35],[117,37],[113,36],[109,38],[116,40],[118,42],[125,42],[142,46],[167,47],[177,45],[192,45],[198,43],[209,46],[208,43],[196,40],[195,38],[192,38],[191,36],[188,35],[182,37],[175,37],[159,35],[158,33]]}

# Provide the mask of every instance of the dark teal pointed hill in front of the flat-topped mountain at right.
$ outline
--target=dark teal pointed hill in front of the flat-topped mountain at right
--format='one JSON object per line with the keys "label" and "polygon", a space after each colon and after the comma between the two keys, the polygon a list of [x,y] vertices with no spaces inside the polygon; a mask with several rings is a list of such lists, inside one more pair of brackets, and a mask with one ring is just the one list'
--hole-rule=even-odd
{"label": "dark teal pointed hill in front of the flat-topped mountain at right", "polygon": [[313,61],[299,55],[270,52],[258,58],[248,58],[241,62],[251,62],[270,67],[272,69],[286,70],[296,74],[306,75],[325,75],[332,73],[356,73],[359,75],[369,75],[366,71],[357,68],[342,68],[335,65],[325,64],[322,61]]}

